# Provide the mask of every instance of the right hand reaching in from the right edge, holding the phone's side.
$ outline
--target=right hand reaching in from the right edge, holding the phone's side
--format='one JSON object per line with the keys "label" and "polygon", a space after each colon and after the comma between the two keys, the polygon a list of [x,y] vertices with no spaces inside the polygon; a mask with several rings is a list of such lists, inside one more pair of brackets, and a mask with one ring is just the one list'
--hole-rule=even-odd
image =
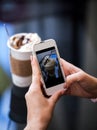
{"label": "right hand reaching in from the right edge, holding the phone's side", "polygon": [[97,98],[97,78],[87,74],[80,68],[61,59],[66,75],[65,94],[83,98]]}

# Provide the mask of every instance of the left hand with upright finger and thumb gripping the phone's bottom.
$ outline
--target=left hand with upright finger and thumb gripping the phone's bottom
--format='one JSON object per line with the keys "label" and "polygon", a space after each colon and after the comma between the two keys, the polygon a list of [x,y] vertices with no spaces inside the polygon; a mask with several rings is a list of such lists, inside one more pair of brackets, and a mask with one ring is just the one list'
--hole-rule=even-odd
{"label": "left hand with upright finger and thumb gripping the phone's bottom", "polygon": [[55,92],[47,98],[42,93],[41,74],[35,56],[31,57],[32,84],[25,95],[27,104],[27,126],[24,130],[45,130],[52,118],[58,99],[65,90]]}

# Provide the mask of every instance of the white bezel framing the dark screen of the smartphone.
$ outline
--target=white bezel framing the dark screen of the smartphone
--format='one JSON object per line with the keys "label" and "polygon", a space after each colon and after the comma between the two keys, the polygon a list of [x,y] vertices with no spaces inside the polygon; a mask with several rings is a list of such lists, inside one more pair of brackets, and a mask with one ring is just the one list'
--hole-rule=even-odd
{"label": "white bezel framing the dark screen of the smartphone", "polygon": [[[42,44],[42,43],[45,43],[45,44]],[[56,53],[57,53],[58,60],[59,60],[59,65],[60,65],[60,68],[61,68],[61,71],[62,71],[62,75],[63,75],[63,78],[64,78],[64,82],[65,82],[65,75],[64,75],[62,66],[61,66],[61,64],[60,64],[60,56],[59,56],[59,52],[58,52],[58,48],[57,48],[57,45],[56,45],[55,40],[53,40],[53,39],[48,39],[48,40],[42,41],[42,42],[39,43],[39,44],[33,45],[33,54],[34,54],[34,55],[36,56],[36,58],[37,58],[36,51],[40,51],[40,50],[43,50],[43,49],[47,49],[47,48],[49,48],[49,47],[55,47],[55,49],[56,49]],[[37,59],[37,61],[38,61],[38,59]],[[38,65],[39,65],[39,64],[38,64]],[[40,69],[40,72],[41,72],[40,66],[39,66],[39,69]],[[43,80],[43,78],[42,78],[42,80]],[[46,88],[45,83],[44,83],[44,80],[43,80],[43,86],[44,86],[44,89],[45,89],[47,95],[52,95],[52,94],[54,94],[57,90],[64,89],[64,88],[63,88],[63,84],[64,84],[64,83],[61,83],[61,84],[59,84],[59,85],[52,86],[52,87],[50,87],[50,88]]]}

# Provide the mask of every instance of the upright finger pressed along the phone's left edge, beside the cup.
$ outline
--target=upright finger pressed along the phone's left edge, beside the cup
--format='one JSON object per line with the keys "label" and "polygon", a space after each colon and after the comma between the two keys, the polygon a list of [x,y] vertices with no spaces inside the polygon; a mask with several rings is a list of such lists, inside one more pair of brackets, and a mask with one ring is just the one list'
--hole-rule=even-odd
{"label": "upright finger pressed along the phone's left edge, beside the cup", "polygon": [[32,82],[35,86],[41,85],[41,74],[39,71],[38,63],[35,56],[31,56],[31,66],[32,66]]}

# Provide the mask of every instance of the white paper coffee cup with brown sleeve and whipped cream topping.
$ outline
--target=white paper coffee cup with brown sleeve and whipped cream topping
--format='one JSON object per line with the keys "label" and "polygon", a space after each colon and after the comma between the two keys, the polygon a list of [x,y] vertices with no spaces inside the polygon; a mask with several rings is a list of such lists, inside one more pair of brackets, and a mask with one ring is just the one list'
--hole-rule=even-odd
{"label": "white paper coffee cup with brown sleeve and whipped cream topping", "polygon": [[34,44],[41,41],[37,33],[19,33],[8,40],[10,48],[10,66],[13,83],[19,87],[31,84],[32,70],[30,55]]}

